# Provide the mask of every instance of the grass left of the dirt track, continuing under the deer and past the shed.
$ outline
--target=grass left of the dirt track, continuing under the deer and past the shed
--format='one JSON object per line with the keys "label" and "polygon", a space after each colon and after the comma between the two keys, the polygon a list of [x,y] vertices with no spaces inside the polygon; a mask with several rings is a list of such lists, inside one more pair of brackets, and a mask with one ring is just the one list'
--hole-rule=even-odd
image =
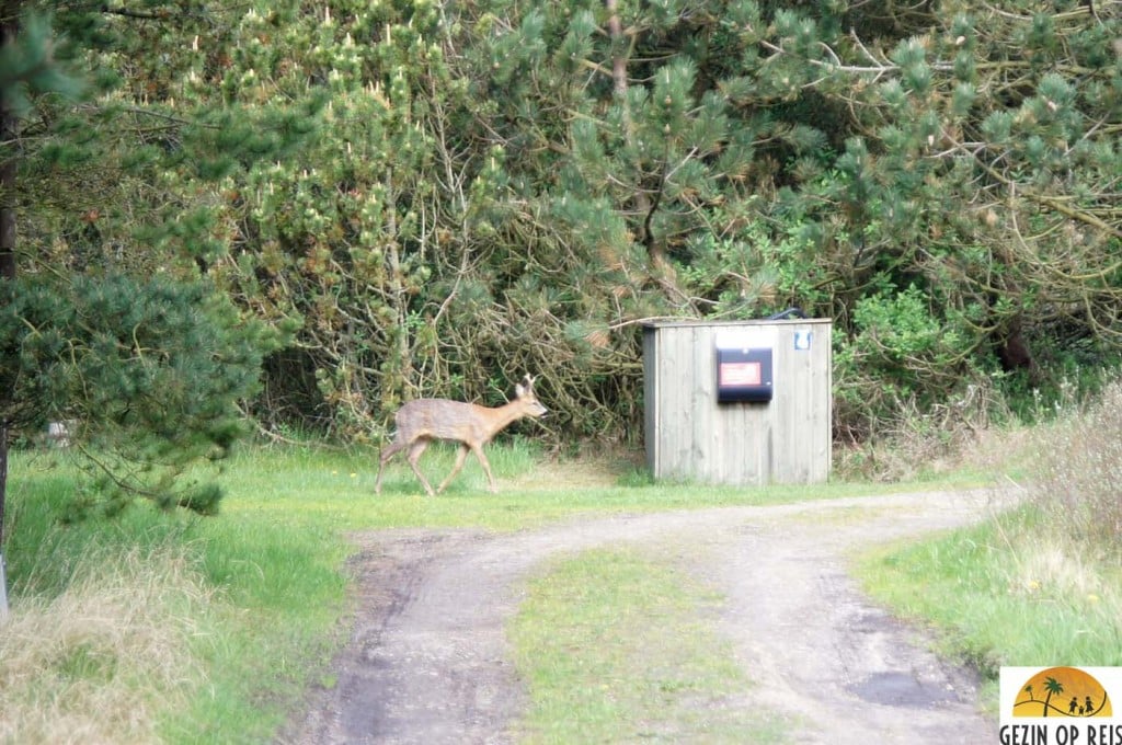
{"label": "grass left of the dirt track, continuing under the deer and past the shed", "polygon": [[[422,466],[439,477],[454,451],[430,450]],[[229,496],[217,517],[137,504],[114,519],[62,524],[77,470],[64,458],[12,453],[0,743],[270,742],[309,682],[325,680],[341,642],[353,531],[514,531],[590,513],[870,491],[652,485],[611,465],[539,463],[521,447],[489,457],[497,495],[469,459],[438,498],[423,495],[404,463],[387,469],[376,497],[373,453],[248,449],[227,465]]]}

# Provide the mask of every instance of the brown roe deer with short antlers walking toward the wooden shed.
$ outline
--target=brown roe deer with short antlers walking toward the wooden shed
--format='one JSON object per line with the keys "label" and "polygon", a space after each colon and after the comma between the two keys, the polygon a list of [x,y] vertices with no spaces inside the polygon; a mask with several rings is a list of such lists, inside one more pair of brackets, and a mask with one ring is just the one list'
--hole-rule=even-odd
{"label": "brown roe deer with short antlers walking toward the wooden shed", "polygon": [[447,398],[419,398],[403,405],[394,414],[397,434],[394,436],[394,441],[381,451],[378,462],[378,480],[374,486],[374,493],[381,494],[381,470],[386,467],[386,462],[408,448],[410,467],[421,480],[429,496],[433,496],[435,493],[432,490],[432,486],[417,468],[417,459],[433,440],[460,443],[460,450],[456,453],[456,467],[436,488],[436,493],[443,491],[444,487],[460,472],[469,450],[476,453],[476,458],[484,467],[491,493],[497,491],[498,487],[495,485],[490,463],[487,462],[487,456],[484,454],[484,445],[490,442],[491,438],[506,425],[524,416],[536,419],[549,412],[534,395],[534,378],[527,374],[523,383],[525,385],[515,386],[514,401],[496,408],[448,401]]}

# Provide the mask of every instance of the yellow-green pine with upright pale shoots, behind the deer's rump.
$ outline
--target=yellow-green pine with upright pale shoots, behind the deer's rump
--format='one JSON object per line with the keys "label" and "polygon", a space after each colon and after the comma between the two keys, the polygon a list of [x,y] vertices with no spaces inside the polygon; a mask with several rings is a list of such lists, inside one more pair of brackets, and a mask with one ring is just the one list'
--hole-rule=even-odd
{"label": "yellow-green pine with upright pale shoots, behind the deer's rump", "polygon": [[[445,98],[436,89],[449,84],[436,25],[433,7],[406,17],[324,3],[314,13],[250,10],[240,26],[247,42],[231,64],[255,86],[239,99],[251,104],[312,81],[330,102],[314,144],[233,186],[246,194],[247,250],[217,273],[266,318],[298,319],[276,383],[310,370],[302,397],[311,404],[298,413],[337,434],[362,435],[371,404],[393,408],[416,385],[415,348],[439,364],[414,298],[442,260],[448,213],[463,206],[462,194],[443,203],[434,181],[436,168],[459,168],[440,162],[444,122],[433,122]],[[284,45],[273,46],[280,33]]]}

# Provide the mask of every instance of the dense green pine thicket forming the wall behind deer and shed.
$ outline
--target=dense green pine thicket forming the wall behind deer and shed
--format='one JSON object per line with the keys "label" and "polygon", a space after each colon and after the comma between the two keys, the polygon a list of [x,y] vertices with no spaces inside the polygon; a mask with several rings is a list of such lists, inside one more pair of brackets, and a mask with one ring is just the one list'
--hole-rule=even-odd
{"label": "dense green pine thicket forming the wall behind deer and shed", "polygon": [[1116,1],[54,7],[90,91],[3,145],[26,270],[205,275],[292,331],[269,426],[531,371],[635,440],[644,320],[788,306],[854,440],[1118,364]]}

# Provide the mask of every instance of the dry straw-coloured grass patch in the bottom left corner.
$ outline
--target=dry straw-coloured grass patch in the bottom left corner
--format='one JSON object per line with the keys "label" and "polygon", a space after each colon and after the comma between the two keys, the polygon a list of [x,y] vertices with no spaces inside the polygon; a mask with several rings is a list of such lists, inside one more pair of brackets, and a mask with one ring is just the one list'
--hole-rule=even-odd
{"label": "dry straw-coloured grass patch in the bottom left corner", "polygon": [[81,567],[0,626],[0,743],[158,742],[159,712],[197,684],[191,640],[209,590],[184,558],[134,551]]}

